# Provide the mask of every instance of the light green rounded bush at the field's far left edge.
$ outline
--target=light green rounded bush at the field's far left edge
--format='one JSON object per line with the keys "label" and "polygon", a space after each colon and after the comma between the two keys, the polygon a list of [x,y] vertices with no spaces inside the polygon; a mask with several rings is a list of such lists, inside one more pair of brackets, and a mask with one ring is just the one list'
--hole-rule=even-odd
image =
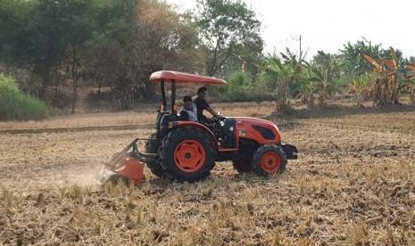
{"label": "light green rounded bush at the field's far left edge", "polygon": [[0,74],[0,120],[45,119],[45,102],[23,94],[12,77]]}

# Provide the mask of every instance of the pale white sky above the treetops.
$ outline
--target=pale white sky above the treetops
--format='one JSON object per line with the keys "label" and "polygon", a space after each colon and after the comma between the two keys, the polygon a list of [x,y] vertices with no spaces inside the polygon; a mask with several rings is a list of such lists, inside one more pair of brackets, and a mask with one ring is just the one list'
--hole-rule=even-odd
{"label": "pale white sky above the treetops", "polygon": [[[307,59],[319,50],[336,53],[361,37],[415,56],[415,1],[411,0],[243,0],[262,22],[265,53],[298,52],[302,36]],[[168,0],[179,11],[194,10],[195,0]]]}

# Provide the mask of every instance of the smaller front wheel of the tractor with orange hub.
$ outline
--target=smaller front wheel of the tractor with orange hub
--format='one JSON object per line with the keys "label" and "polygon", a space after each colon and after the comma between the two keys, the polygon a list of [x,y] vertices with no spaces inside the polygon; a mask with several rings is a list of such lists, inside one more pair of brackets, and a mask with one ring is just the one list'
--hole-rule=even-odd
{"label": "smaller front wheel of the tractor with orange hub", "polygon": [[263,145],[253,153],[251,165],[260,176],[276,176],[286,170],[286,153],[278,145]]}

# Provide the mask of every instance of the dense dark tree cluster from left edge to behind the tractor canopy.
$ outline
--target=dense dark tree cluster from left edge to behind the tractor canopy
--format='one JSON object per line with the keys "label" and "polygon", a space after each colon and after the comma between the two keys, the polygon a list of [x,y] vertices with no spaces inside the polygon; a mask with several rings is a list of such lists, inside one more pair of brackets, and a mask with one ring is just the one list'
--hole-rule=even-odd
{"label": "dense dark tree cluster from left edge to behind the tractor canopy", "polygon": [[[110,86],[121,110],[154,95],[154,70],[200,71],[204,50],[191,15],[158,0],[4,0],[0,61],[33,71],[47,87]],[[43,95],[43,94],[41,94]]]}

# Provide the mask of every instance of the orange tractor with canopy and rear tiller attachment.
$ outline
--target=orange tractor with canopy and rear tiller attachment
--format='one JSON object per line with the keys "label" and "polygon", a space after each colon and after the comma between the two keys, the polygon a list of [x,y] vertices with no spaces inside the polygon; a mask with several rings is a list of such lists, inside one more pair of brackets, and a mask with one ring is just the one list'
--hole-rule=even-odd
{"label": "orange tractor with canopy and rear tiller attachment", "polygon": [[[211,174],[215,161],[231,160],[238,172],[253,171],[260,176],[275,176],[286,168],[286,160],[297,159],[297,148],[281,142],[278,127],[265,119],[218,115],[207,122],[182,120],[177,111],[177,84],[226,85],[209,78],[176,71],[158,71],[150,81],[160,83],[162,107],[158,111],[156,132],[137,138],[106,163],[108,180],[134,184],[143,181],[146,165],[155,176],[178,182],[195,182]],[[171,85],[170,111],[165,85]],[[145,141],[145,152],[138,142]]]}

